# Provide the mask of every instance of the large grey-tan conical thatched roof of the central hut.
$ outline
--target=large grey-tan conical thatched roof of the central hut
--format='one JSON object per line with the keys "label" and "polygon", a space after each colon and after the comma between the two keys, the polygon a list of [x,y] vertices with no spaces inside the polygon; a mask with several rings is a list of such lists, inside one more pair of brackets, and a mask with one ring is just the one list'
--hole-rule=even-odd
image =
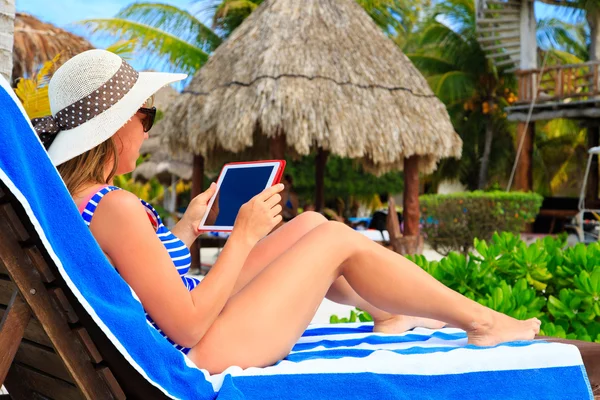
{"label": "large grey-tan conical thatched roof of the central hut", "polygon": [[424,77],[354,0],[266,0],[212,55],[165,120],[174,150],[207,168],[317,146],[375,173],[422,157],[421,172],[462,142]]}

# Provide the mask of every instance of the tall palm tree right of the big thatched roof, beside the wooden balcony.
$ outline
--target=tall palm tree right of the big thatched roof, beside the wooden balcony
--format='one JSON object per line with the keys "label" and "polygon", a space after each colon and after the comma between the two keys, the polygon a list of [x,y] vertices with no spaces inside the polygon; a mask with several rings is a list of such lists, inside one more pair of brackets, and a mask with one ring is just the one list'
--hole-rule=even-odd
{"label": "tall palm tree right of the big thatched roof, beside the wooden balcony", "polygon": [[[448,161],[442,164],[441,174],[447,166],[470,188],[484,189],[492,158],[505,159],[507,148],[494,146],[494,142],[506,144],[510,138],[503,109],[515,97],[512,75],[496,69],[477,41],[474,2],[448,0],[436,4],[424,23],[421,50],[408,56],[427,76],[463,137],[459,168]],[[494,172],[504,166],[500,162],[493,165]]]}

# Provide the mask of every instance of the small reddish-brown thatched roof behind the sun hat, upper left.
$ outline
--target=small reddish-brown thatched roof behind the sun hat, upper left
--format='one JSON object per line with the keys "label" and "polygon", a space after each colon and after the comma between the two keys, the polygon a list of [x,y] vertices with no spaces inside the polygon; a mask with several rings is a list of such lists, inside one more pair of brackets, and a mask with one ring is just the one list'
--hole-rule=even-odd
{"label": "small reddish-brown thatched roof behind the sun hat, upper left", "polygon": [[12,77],[17,79],[32,76],[43,63],[52,60],[58,53],[61,53],[61,57],[56,68],[71,57],[93,48],[81,36],[42,22],[29,14],[17,13]]}

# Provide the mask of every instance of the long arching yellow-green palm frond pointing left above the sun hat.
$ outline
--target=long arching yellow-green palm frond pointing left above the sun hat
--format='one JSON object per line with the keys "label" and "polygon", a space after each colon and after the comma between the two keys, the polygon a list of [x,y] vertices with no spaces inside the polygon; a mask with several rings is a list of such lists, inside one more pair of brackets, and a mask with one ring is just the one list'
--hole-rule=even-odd
{"label": "long arching yellow-green palm frond pointing left above the sun hat", "polygon": [[104,33],[123,40],[137,38],[136,51],[152,67],[185,73],[196,72],[208,60],[208,54],[185,40],[161,29],[121,18],[88,19],[79,22],[91,33]]}

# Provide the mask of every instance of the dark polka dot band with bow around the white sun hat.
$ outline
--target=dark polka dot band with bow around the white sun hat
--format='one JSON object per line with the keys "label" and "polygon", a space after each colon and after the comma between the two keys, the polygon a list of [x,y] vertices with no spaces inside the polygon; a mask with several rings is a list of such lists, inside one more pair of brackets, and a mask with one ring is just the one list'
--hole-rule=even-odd
{"label": "dark polka dot band with bow around the white sun hat", "polygon": [[102,114],[121,100],[137,82],[139,73],[125,60],[117,72],[97,90],[58,111],[55,116],[31,121],[44,147],[48,149],[60,131],[67,131]]}

